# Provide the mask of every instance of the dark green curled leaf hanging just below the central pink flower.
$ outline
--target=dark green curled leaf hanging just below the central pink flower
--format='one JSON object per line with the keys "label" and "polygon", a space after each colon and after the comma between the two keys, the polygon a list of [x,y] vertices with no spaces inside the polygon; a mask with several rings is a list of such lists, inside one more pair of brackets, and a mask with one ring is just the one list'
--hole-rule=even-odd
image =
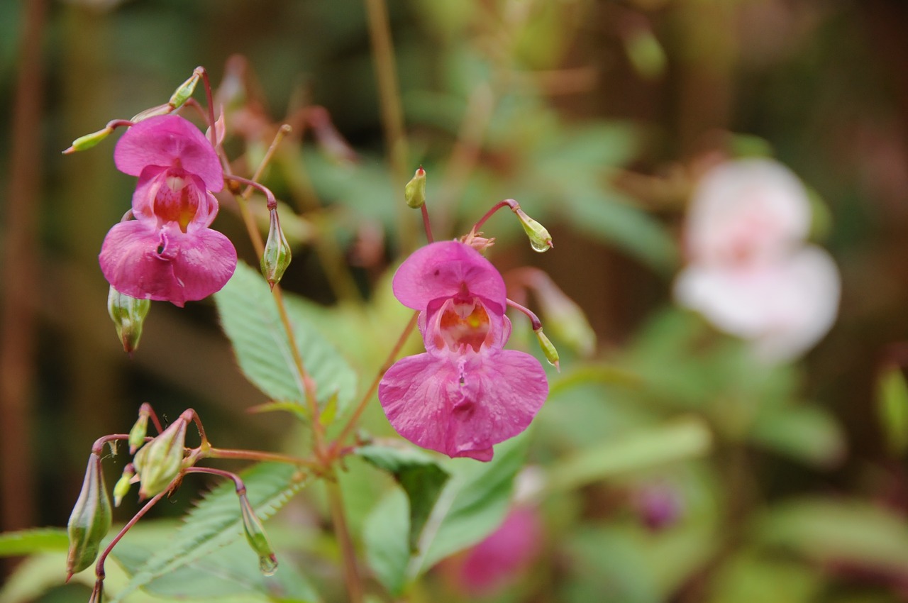
{"label": "dark green curled leaf hanging just below the central pink flower", "polygon": [[407,493],[410,501],[409,543],[410,550],[415,552],[429,513],[450,477],[448,471],[419,450],[363,446],[357,454],[380,470],[388,471]]}

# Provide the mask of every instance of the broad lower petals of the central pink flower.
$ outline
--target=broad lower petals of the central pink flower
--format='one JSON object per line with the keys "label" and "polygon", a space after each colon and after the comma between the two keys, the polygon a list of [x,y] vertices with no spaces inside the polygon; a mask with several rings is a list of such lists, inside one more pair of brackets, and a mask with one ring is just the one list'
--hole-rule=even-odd
{"label": "broad lower petals of the central pink flower", "polygon": [[491,448],[526,430],[548,396],[546,373],[527,353],[410,356],[379,384],[401,436],[449,457],[490,460]]}

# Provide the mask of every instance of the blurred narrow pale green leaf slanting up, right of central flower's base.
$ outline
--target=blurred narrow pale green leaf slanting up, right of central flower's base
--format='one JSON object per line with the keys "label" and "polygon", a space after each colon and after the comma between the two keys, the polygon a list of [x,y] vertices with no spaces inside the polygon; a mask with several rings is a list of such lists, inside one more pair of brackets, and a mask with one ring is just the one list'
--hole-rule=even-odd
{"label": "blurred narrow pale green leaf slanting up, right of central flower's base", "polygon": [[678,460],[706,455],[712,434],[702,420],[688,417],[639,430],[581,450],[548,469],[549,489],[572,489]]}

